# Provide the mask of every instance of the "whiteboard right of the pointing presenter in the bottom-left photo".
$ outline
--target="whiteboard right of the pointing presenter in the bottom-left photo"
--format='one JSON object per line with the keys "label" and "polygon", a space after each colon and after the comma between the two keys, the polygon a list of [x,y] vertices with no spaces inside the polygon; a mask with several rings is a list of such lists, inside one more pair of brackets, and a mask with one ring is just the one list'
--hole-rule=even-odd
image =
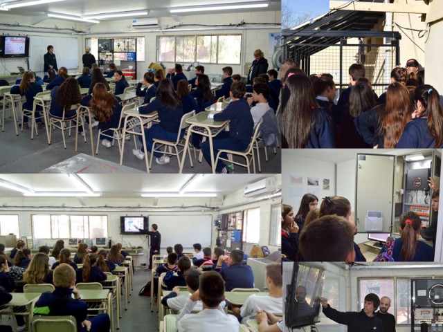
{"label": "whiteboard right of the pointing presenter in the bottom-left photo", "polygon": [[197,215],[149,215],[150,228],[153,223],[159,226],[161,248],[174,247],[180,243],[183,248],[192,248],[200,243],[201,247],[210,246],[213,230],[213,216]]}

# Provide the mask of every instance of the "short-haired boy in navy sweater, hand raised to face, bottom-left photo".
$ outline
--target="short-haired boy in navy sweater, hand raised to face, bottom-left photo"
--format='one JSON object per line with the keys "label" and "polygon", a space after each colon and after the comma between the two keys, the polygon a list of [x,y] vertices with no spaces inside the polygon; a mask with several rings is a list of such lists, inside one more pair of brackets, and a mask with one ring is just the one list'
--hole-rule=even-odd
{"label": "short-haired boy in navy sweater, hand raised to face, bottom-left photo", "polygon": [[[234,249],[229,254],[229,266],[221,270],[220,275],[226,282],[226,291],[230,292],[233,288],[254,288],[254,274],[251,266],[243,265],[244,252]],[[226,260],[226,256],[220,256],[217,265]]]}

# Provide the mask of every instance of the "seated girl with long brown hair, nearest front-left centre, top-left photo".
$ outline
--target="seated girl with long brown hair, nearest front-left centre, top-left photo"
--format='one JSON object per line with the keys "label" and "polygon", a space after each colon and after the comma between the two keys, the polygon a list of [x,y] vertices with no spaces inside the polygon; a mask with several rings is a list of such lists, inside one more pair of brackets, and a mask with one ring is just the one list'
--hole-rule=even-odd
{"label": "seated girl with long brown hair, nearest front-left centre, top-left photo", "polygon": [[[108,93],[105,84],[97,83],[94,86],[90,107],[96,116],[96,120],[99,121],[98,128],[102,131],[109,128],[119,128],[123,125],[123,121],[120,123],[123,107],[114,95]],[[107,140],[107,136],[100,134],[100,140],[102,140],[102,145],[105,145],[105,147],[111,147],[111,142]]]}

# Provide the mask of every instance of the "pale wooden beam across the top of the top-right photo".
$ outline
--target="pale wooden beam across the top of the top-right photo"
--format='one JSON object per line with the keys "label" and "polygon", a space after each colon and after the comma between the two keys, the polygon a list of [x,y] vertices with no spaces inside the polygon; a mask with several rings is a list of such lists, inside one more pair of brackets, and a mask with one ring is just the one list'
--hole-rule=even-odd
{"label": "pale wooden beam across the top of the top-right photo", "polygon": [[404,12],[410,14],[427,14],[428,7],[413,3],[379,3],[352,1],[348,6],[346,1],[329,0],[329,9],[359,10],[363,12]]}

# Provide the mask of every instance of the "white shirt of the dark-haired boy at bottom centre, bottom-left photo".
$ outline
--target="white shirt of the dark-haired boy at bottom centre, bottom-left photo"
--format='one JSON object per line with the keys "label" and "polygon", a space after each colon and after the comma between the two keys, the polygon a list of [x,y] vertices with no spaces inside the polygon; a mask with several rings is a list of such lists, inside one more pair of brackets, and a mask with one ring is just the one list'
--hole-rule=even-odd
{"label": "white shirt of the dark-haired boy at bottom centre, bottom-left photo", "polygon": [[197,302],[188,299],[185,306],[177,317],[177,329],[179,332],[188,331],[223,331],[238,332],[240,329],[237,318],[226,315],[220,308],[204,309],[196,314],[191,314]]}

